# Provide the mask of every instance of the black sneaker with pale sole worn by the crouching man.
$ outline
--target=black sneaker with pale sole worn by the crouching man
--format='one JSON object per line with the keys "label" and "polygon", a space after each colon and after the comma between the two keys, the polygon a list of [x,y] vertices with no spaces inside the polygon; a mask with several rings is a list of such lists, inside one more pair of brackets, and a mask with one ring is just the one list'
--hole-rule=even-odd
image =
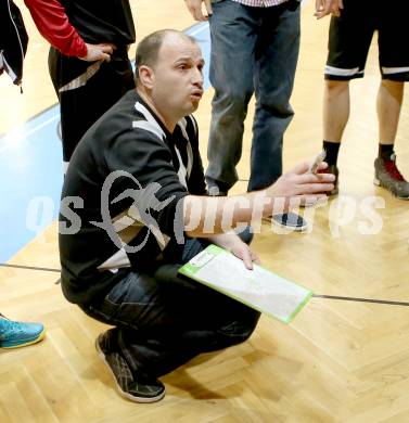
{"label": "black sneaker with pale sole worn by the crouching man", "polygon": [[98,356],[114,376],[119,395],[135,402],[155,402],[162,399],[165,396],[165,386],[161,381],[132,374],[125,358],[117,351],[110,351],[108,332],[98,336],[95,348]]}

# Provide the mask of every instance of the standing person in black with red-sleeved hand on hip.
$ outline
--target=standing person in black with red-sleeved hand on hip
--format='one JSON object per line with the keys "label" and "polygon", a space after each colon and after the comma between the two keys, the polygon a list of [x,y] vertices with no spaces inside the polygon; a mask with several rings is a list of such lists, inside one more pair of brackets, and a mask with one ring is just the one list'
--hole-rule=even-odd
{"label": "standing person in black with red-sleeved hand on hip", "polygon": [[25,0],[51,43],[49,69],[60,101],[66,167],[87,129],[135,88],[128,47],[136,40],[129,0]]}

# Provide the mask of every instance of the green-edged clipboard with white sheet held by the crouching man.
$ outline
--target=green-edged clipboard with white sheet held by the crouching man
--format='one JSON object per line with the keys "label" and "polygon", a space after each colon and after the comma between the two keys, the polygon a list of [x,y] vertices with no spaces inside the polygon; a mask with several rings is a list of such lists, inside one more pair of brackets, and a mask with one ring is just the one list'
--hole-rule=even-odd
{"label": "green-edged clipboard with white sheet held by the crouching man", "polygon": [[230,252],[210,244],[179,269],[203,283],[283,323],[290,323],[312,291],[254,264],[248,270]]}

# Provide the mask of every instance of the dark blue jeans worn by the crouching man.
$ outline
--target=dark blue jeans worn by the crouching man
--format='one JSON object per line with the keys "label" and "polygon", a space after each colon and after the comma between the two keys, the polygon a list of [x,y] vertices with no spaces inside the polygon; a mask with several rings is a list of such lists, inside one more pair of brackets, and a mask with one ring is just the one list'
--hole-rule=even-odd
{"label": "dark blue jeans worn by the crouching man", "polygon": [[135,373],[158,377],[201,352],[242,343],[255,330],[258,311],[178,275],[179,267],[206,245],[188,240],[169,251],[152,274],[119,270],[120,282],[103,300],[81,306],[115,326],[110,344]]}

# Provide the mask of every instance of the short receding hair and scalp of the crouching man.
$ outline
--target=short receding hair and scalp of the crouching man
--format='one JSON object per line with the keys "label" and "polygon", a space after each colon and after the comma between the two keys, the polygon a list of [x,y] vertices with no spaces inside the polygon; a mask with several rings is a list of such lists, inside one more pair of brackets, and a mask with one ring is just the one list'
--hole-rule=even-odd
{"label": "short receding hair and scalp of the crouching man", "polygon": [[180,40],[196,44],[196,40],[176,29],[161,29],[146,36],[139,42],[136,54],[136,78],[140,81],[139,67],[149,66],[154,68],[159,55],[161,48],[167,43],[178,42]]}

